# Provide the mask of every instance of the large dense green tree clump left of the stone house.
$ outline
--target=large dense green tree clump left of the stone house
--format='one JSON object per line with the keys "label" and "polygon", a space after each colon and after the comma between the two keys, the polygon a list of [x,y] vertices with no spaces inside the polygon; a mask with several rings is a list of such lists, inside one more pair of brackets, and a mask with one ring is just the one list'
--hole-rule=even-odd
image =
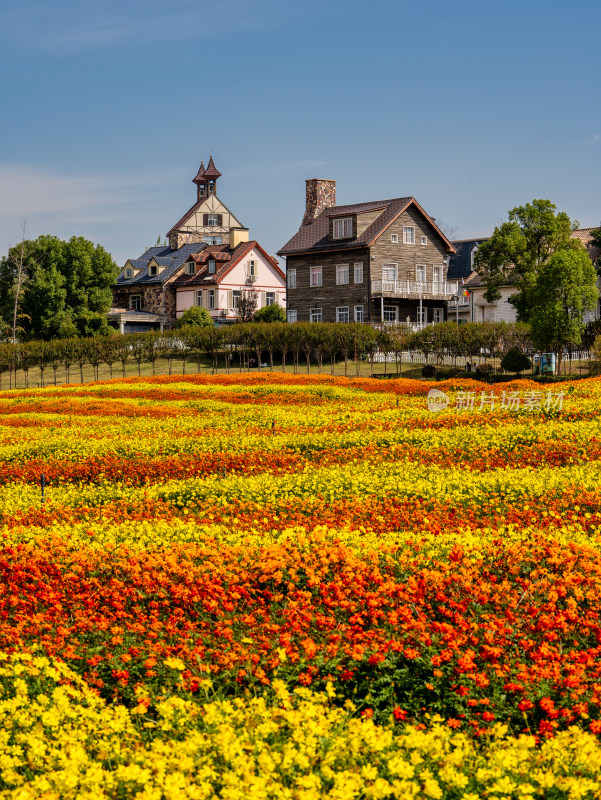
{"label": "large dense green tree clump left of the stone house", "polygon": [[[100,245],[73,236],[39,236],[24,243],[27,281],[22,288],[19,327],[25,339],[105,334],[111,286],[119,267]],[[12,319],[16,265],[21,245],[0,260],[0,316]]]}

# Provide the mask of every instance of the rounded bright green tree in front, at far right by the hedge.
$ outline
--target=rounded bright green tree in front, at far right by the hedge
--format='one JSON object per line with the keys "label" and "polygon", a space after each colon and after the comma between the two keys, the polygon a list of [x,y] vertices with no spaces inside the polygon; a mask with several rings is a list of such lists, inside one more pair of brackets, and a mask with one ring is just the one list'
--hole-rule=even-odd
{"label": "rounded bright green tree in front, at far right by the hedge", "polygon": [[530,325],[535,347],[557,353],[561,368],[564,347],[579,345],[583,316],[597,304],[597,274],[584,248],[554,253],[537,275]]}

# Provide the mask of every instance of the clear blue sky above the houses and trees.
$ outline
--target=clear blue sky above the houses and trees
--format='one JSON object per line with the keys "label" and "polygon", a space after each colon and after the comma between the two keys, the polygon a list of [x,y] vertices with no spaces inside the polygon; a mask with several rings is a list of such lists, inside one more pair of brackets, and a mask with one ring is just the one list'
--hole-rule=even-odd
{"label": "clear blue sky above the houses and trees", "polygon": [[123,264],[218,193],[274,253],[304,181],[414,195],[456,238],[549,198],[601,222],[598,0],[0,0],[0,254]]}

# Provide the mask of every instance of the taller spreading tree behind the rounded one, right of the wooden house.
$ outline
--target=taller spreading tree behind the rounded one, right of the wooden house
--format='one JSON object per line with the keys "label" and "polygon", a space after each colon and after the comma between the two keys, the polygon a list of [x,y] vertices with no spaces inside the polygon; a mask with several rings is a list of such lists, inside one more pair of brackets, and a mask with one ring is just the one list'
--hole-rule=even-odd
{"label": "taller spreading tree behind the rounded one, right of the wooden house", "polygon": [[530,320],[537,278],[549,259],[558,252],[584,251],[582,243],[571,236],[579,223],[571,222],[563,211],[556,214],[555,208],[550,200],[533,200],[512,209],[509,221],[495,228],[474,259],[486,285],[486,301],[499,300],[500,286],[514,285],[517,291],[509,302],[523,322]]}

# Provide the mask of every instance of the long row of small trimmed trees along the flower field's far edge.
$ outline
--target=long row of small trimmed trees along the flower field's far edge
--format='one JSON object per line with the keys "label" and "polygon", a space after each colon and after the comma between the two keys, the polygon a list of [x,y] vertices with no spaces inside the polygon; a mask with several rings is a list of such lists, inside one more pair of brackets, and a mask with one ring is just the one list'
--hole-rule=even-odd
{"label": "long row of small trimmed trees along the flower field's far edge", "polygon": [[[208,362],[213,371],[262,369],[275,364],[295,371],[317,364],[319,370],[333,371],[336,362],[343,361],[345,374],[358,374],[361,360],[373,363],[376,356],[399,371],[402,359],[436,363],[444,357],[454,359],[502,358],[517,348],[531,353],[530,330],[522,323],[469,323],[456,325],[447,322],[412,332],[404,325],[382,330],[369,325],[335,323],[248,323],[216,327],[188,325],[177,331],[163,333],[114,334],[110,336],[71,337],[51,341],[30,341],[0,344],[0,383],[3,376],[23,370],[25,380],[31,369],[40,371],[41,383],[71,381],[74,374],[83,382],[84,367],[90,365],[94,377],[106,365],[110,377],[125,375],[128,364],[136,364],[141,374],[142,364],[164,359],[168,372],[174,368],[184,374],[188,369],[200,371]],[[354,366],[352,365],[354,363]],[[177,363],[177,367],[175,364]],[[302,365],[302,366],[301,366]]]}

